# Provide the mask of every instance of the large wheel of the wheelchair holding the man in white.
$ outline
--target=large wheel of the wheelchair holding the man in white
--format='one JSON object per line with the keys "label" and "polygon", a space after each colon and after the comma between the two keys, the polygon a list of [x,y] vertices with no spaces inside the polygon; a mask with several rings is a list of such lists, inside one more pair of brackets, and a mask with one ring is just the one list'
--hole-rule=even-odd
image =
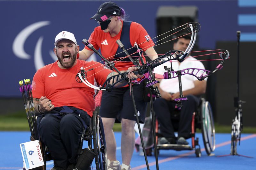
{"label": "large wheel of the wheelchair holding the man in white", "polygon": [[215,128],[212,107],[208,101],[203,100],[200,117],[205,152],[210,155],[215,150]]}

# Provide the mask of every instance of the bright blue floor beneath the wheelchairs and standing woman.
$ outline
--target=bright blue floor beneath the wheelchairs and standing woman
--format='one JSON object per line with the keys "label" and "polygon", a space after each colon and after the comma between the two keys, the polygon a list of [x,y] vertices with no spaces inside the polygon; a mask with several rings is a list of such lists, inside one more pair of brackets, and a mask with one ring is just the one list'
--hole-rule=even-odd
{"label": "bright blue floor beneath the wheelchairs and standing woman", "polygon": [[[20,151],[20,143],[30,140],[30,132],[0,132],[0,169],[1,170],[18,170],[22,169],[22,155]],[[117,140],[117,159],[122,163],[120,150],[121,133],[115,132]],[[217,157],[230,153],[230,134],[216,134],[216,149],[213,152],[214,156],[207,156],[204,151],[202,135],[196,134],[199,138],[202,156],[196,157],[195,151],[174,151],[160,150],[158,156],[159,169],[225,169],[225,170],[256,170],[256,134],[242,134],[241,144],[237,146],[237,152],[241,155],[250,156],[253,158],[245,158],[243,156],[226,156]],[[189,142],[191,140],[188,140]],[[86,145],[86,143],[84,144]],[[155,157],[148,156],[150,169],[156,169]],[[47,170],[51,169],[53,162],[47,163]],[[139,152],[134,150],[131,166],[133,170],[147,169],[144,156],[140,156]],[[92,164],[92,169],[95,165]]]}

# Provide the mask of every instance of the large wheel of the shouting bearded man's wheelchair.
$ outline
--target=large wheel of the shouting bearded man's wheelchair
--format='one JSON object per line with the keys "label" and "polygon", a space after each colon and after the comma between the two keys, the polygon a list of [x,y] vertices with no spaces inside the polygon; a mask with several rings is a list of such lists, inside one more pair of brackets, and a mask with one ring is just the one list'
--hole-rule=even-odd
{"label": "large wheel of the shouting bearded man's wheelchair", "polygon": [[98,113],[93,113],[93,151],[97,155],[95,164],[97,170],[107,170],[107,149],[103,123]]}

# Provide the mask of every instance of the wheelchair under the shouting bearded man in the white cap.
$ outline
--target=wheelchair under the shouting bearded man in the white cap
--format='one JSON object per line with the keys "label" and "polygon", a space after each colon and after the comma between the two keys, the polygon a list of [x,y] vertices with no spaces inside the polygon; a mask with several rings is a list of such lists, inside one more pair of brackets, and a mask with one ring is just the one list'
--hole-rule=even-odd
{"label": "wheelchair under the shouting bearded man in the white cap", "polygon": [[[78,156],[82,154],[84,141],[88,142],[88,150],[94,152],[96,169],[107,170],[107,149],[103,123],[97,112],[93,112],[93,116],[90,118],[90,127],[83,129],[83,134],[78,148]],[[40,141],[40,143],[42,143],[42,141]],[[47,147],[43,143],[41,150],[44,155],[44,166],[40,169],[46,170],[46,161],[52,160],[52,157],[51,153],[47,152]],[[91,166],[88,170],[90,169]]]}

